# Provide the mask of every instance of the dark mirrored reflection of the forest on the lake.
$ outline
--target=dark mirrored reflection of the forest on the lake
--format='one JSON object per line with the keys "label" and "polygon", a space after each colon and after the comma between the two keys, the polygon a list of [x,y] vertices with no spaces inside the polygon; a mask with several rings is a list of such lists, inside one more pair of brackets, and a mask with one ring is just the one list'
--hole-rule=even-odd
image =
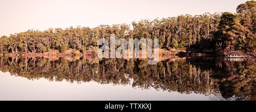
{"label": "dark mirrored reflection of the forest on the lake", "polygon": [[[224,99],[256,100],[254,62],[221,62],[215,59],[165,60],[148,65],[146,60],[60,58],[0,58],[0,70],[28,79],[101,84],[131,84],[133,87],[179,93],[218,94]],[[253,75],[252,75],[253,76]],[[214,99],[214,98],[212,98]]]}

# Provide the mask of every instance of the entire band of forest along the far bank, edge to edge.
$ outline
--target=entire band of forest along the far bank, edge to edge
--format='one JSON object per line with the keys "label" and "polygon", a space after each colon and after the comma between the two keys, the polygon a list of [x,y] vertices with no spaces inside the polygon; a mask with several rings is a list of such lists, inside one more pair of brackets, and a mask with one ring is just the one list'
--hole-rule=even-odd
{"label": "entire band of forest along the far bank, edge to edge", "polygon": [[49,28],[28,30],[0,38],[1,54],[60,53],[73,49],[80,53],[96,50],[97,40],[110,34],[116,38],[159,38],[161,49],[196,49],[201,52],[241,51],[255,57],[256,2],[237,6],[237,13],[180,15],[130,24],[100,25],[95,28]]}

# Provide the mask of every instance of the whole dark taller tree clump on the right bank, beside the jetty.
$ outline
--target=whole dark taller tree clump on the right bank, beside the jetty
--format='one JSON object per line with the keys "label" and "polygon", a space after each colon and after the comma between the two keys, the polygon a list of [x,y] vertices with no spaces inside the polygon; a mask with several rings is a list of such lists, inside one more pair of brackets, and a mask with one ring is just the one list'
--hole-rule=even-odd
{"label": "whole dark taller tree clump on the right bank, beside the jetty", "polygon": [[243,51],[256,57],[256,2],[247,1],[237,7],[237,14],[224,12],[216,32],[216,46]]}

